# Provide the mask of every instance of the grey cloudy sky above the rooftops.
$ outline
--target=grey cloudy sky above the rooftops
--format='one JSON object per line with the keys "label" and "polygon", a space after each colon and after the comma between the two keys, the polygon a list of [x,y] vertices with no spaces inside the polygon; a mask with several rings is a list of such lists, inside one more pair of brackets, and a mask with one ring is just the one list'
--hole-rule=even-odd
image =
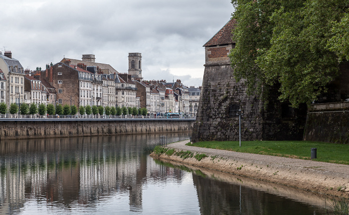
{"label": "grey cloudy sky above the rooftops", "polygon": [[25,69],[94,54],[123,73],[128,53],[139,52],[145,80],[196,87],[202,45],[233,12],[230,0],[7,0],[1,8],[0,50]]}

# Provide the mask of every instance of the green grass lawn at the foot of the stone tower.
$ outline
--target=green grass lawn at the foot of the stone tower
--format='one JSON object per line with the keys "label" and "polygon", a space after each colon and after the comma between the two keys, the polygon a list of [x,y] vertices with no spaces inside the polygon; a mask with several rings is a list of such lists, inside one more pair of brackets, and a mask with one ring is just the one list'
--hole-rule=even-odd
{"label": "green grass lawn at the foot of the stone tower", "polygon": [[191,146],[306,160],[311,158],[311,148],[317,148],[317,158],[313,160],[349,164],[348,144],[313,141],[242,141],[239,147],[239,141],[207,141],[193,143]]}

